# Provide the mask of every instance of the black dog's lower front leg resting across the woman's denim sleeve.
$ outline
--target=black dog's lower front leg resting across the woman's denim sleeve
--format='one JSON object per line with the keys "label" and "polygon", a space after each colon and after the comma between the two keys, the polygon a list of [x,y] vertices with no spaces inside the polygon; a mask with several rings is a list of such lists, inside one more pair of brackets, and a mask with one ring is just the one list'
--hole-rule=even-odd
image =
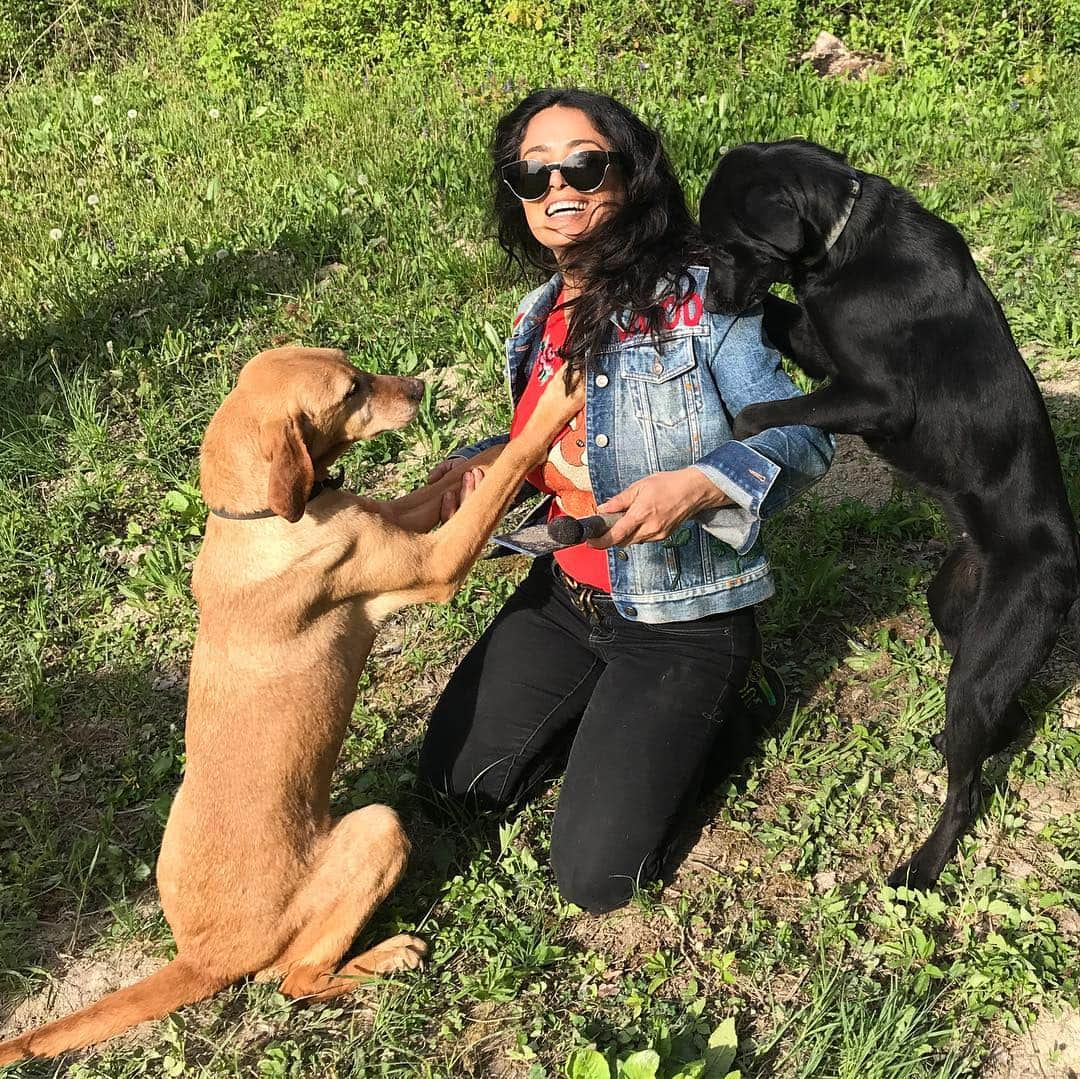
{"label": "black dog's lower front leg resting across the woman's denim sleeve", "polygon": [[773,427],[805,423],[838,434],[895,437],[910,426],[895,405],[895,395],[870,395],[864,387],[849,387],[839,379],[800,397],[761,401],[747,405],[737,417],[737,439]]}

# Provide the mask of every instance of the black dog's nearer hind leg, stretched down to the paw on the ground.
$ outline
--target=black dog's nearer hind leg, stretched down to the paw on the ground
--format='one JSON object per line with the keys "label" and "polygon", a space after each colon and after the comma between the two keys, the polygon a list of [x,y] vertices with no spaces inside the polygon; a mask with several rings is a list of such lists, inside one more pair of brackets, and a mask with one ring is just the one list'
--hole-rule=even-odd
{"label": "black dog's nearer hind leg, stretched down to the paw on the ground", "polygon": [[909,862],[889,877],[894,888],[931,888],[977,811],[983,761],[1024,725],[1016,694],[1042,665],[1068,603],[1048,603],[1039,580],[1018,576],[1016,558],[984,569],[978,599],[961,631],[946,690],[948,792],[941,818]]}

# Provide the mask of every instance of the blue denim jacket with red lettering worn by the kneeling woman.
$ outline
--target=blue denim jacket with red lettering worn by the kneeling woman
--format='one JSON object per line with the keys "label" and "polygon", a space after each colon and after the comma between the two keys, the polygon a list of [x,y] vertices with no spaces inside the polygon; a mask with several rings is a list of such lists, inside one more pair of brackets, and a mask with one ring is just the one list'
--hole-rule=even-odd
{"label": "blue denim jacket with red lettering worn by the kneeling woman", "polygon": [[[760,308],[739,315],[704,310],[708,270],[690,267],[693,293],[666,301],[653,339],[632,313],[612,315],[607,347],[588,365],[585,439],[597,504],[653,472],[693,466],[734,503],[686,521],[665,540],[607,552],[611,597],[623,618],[680,622],[758,603],[774,591],[760,523],[825,474],[832,437],[811,427],[731,437],[732,418],[757,401],[799,391],[762,340]],[[544,322],[562,287],[558,274],[529,293],[507,341],[516,404]],[[507,435],[459,448],[471,457]]]}

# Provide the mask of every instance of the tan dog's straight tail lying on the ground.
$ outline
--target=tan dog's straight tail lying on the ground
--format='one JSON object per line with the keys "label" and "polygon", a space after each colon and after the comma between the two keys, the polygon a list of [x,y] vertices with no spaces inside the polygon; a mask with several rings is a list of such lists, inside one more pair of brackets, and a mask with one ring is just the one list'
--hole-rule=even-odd
{"label": "tan dog's straight tail lying on the ground", "polygon": [[56,1056],[121,1034],[147,1020],[161,1019],[181,1004],[205,1000],[233,979],[211,974],[177,956],[141,982],[103,997],[66,1019],[0,1041],[0,1066],[30,1056]]}

